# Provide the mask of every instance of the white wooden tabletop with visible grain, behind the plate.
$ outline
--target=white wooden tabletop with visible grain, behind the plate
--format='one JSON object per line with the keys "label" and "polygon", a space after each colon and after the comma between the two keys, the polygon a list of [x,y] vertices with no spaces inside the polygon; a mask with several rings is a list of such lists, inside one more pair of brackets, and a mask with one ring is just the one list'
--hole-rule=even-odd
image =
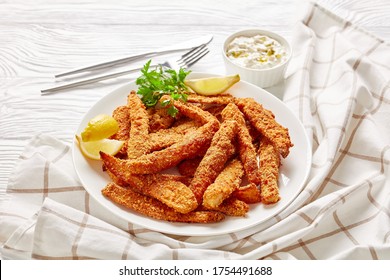
{"label": "white wooden tabletop with visible grain, behind the plate", "polygon": [[[390,40],[388,0],[319,3]],[[289,0],[0,1],[0,190],[32,136],[45,133],[70,143],[83,114],[135,77],[41,96],[41,89],[55,85],[55,73],[211,33],[210,53],[192,70],[224,74],[221,45],[229,33],[259,27],[291,39],[301,5]]]}

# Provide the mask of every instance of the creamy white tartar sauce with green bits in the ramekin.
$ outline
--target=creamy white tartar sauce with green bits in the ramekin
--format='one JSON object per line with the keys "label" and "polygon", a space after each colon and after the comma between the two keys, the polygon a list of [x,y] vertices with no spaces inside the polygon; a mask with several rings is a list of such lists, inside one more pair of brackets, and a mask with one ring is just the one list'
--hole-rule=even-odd
{"label": "creamy white tartar sauce with green bits in the ramekin", "polygon": [[235,64],[253,69],[272,68],[287,59],[286,48],[265,35],[236,37],[228,45],[226,55]]}

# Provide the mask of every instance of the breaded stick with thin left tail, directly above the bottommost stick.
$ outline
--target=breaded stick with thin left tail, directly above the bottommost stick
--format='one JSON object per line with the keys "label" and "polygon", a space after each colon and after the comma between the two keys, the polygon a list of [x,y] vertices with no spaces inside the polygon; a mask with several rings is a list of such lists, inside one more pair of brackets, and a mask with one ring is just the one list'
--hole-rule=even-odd
{"label": "breaded stick with thin left tail, directly above the bottommost stick", "polygon": [[117,177],[117,182],[124,182],[134,191],[153,197],[180,213],[188,213],[198,206],[195,195],[182,182],[162,174],[134,175],[117,165],[116,160],[107,157],[103,162],[107,170]]}

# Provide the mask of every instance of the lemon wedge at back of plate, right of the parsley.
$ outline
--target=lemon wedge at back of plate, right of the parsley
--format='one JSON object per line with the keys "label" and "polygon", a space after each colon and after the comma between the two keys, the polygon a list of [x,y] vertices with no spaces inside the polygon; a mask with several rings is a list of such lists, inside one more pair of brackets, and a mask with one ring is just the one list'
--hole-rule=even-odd
{"label": "lemon wedge at back of plate, right of the parsley", "polygon": [[240,75],[188,79],[184,83],[200,95],[217,95],[226,92],[231,86],[240,81]]}

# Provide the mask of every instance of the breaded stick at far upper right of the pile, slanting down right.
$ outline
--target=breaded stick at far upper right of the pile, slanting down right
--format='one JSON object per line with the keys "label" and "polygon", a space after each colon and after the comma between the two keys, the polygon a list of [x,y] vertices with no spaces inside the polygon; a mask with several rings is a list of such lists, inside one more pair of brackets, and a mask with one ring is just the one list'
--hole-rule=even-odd
{"label": "breaded stick at far upper right of the pile, slanting down right", "polygon": [[253,98],[236,98],[234,102],[250,123],[271,141],[282,157],[287,157],[293,144],[288,129],[275,120],[272,112],[264,109]]}

